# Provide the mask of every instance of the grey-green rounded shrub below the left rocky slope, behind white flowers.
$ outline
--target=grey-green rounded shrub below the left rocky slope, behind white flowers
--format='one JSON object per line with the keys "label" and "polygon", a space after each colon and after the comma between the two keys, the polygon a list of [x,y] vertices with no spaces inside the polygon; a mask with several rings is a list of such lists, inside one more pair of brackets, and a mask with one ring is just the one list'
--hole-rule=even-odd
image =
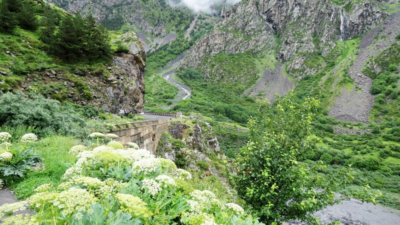
{"label": "grey-green rounded shrub below the left rocky slope, behind white flowers", "polygon": [[32,94],[5,93],[0,96],[0,125],[30,126],[38,135],[51,133],[86,135],[86,122],[73,108],[56,100]]}

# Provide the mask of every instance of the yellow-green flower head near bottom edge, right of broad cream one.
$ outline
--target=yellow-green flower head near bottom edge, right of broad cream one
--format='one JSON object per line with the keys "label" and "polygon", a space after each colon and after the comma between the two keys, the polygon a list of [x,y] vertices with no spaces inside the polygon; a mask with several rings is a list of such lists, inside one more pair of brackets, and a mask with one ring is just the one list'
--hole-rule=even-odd
{"label": "yellow-green flower head near bottom edge, right of broad cream one", "polygon": [[119,200],[122,211],[133,214],[133,217],[143,216],[146,218],[151,215],[151,211],[148,210],[147,204],[139,197],[131,194],[118,193],[116,194],[116,198]]}

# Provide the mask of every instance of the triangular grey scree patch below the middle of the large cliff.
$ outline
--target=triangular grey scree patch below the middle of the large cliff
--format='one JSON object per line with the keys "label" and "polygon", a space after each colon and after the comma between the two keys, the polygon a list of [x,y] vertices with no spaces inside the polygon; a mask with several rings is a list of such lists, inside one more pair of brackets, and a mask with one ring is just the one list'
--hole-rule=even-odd
{"label": "triangular grey scree patch below the middle of the large cliff", "polygon": [[263,76],[244,93],[250,96],[260,95],[273,101],[275,94],[282,96],[294,88],[295,84],[283,75],[283,65],[276,64],[274,69],[265,69]]}

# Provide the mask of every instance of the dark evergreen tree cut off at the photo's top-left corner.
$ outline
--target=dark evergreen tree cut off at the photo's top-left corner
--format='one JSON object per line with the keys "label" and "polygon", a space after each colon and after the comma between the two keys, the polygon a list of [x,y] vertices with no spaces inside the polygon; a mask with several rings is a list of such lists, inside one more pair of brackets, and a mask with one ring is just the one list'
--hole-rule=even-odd
{"label": "dark evergreen tree cut off at the photo's top-left corner", "polygon": [[[17,4],[17,1],[16,1]],[[0,30],[1,31],[12,31],[17,25],[16,15],[12,0],[2,0],[0,4]]]}

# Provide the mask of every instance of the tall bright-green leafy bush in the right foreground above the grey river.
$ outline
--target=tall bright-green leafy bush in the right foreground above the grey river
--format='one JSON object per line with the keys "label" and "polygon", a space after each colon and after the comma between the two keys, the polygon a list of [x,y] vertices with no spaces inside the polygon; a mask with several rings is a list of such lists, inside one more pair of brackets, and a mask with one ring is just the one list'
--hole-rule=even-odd
{"label": "tall bright-green leafy bush in the right foreground above the grey river", "polygon": [[323,164],[298,161],[305,152],[317,150],[318,140],[312,138],[309,124],[318,101],[306,98],[296,103],[293,98],[288,94],[278,99],[275,107],[260,104],[261,116],[249,120],[250,138],[236,164],[238,193],[268,224],[290,219],[314,223],[309,215],[334,204],[330,191],[345,185],[352,176],[343,168],[315,183],[311,177],[323,170]]}

